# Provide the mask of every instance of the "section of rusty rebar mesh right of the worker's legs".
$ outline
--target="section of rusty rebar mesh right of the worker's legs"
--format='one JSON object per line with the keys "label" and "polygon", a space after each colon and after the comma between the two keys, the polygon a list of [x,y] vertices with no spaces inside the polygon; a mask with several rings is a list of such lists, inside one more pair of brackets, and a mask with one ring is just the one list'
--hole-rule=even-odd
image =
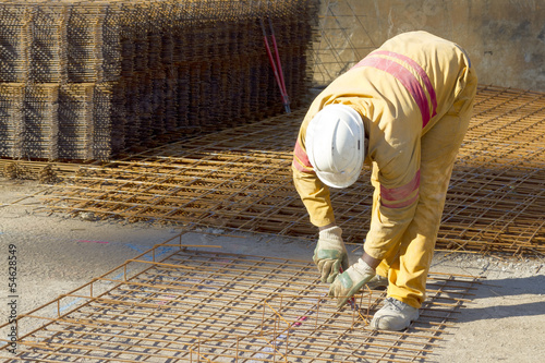
{"label": "section of rusty rebar mesh right of the worker's legs", "polygon": [[447,196],[440,239],[452,249],[544,252],[545,94],[483,87]]}

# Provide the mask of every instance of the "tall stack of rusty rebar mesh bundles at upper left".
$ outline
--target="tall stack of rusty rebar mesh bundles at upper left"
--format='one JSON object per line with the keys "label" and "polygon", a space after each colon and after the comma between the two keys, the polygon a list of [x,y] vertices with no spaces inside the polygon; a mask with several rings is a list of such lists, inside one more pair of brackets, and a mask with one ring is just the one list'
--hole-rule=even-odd
{"label": "tall stack of rusty rebar mesh bundles at upper left", "polygon": [[0,3],[0,157],[108,159],[282,112],[259,22],[300,105],[316,1]]}

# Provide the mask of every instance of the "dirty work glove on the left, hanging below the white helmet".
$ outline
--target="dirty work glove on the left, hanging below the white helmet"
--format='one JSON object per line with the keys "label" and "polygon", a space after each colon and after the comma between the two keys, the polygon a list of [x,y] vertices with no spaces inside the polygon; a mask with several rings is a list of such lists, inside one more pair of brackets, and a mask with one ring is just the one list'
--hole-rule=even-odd
{"label": "dirty work glove on the left, hanging below the white helmet", "polygon": [[339,269],[347,269],[349,266],[347,249],[341,235],[342,229],[337,226],[319,232],[313,261],[318,266],[322,282],[331,283],[339,274]]}

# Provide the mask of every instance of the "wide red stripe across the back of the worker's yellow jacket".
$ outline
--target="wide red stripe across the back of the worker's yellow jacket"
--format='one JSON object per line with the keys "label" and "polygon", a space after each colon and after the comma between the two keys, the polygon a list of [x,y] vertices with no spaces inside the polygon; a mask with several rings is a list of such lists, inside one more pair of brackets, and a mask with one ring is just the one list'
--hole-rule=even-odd
{"label": "wide red stripe across the back of the worker's yellow jacket", "polygon": [[425,128],[431,120],[429,116],[429,105],[427,102],[427,97],[424,93],[424,88],[420,84],[419,80],[412,74],[408,69],[399,64],[398,62],[379,57],[373,57],[373,53],[363,60],[361,60],[354,68],[360,66],[372,66],[377,70],[385,71],[392,76],[395,76],[411,94],[412,98],[416,102],[422,116],[422,128]]}

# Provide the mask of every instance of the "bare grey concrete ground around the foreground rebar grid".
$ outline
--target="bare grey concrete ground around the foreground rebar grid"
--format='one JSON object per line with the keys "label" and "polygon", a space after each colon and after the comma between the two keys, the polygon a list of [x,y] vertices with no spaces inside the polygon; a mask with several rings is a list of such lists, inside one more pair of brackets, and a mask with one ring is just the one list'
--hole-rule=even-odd
{"label": "bare grey concrete ground around the foreground rebar grid", "polygon": [[[0,205],[40,189],[33,182],[0,179]],[[3,256],[8,255],[10,244],[17,250],[19,313],[45,304],[181,232],[179,228],[150,223],[48,216],[39,209],[39,204],[21,205],[28,202],[33,199],[0,207],[0,256],[5,261]],[[197,233],[192,235],[195,243],[206,238]],[[229,239],[223,251],[296,259],[311,259],[312,255],[307,242],[263,235]],[[443,336],[441,347],[434,351],[434,360],[464,363],[541,361],[545,353],[543,265],[540,259],[437,253],[433,271],[483,276],[485,283],[461,310],[456,328]],[[0,325],[8,319],[7,295],[8,269],[2,267]]]}

